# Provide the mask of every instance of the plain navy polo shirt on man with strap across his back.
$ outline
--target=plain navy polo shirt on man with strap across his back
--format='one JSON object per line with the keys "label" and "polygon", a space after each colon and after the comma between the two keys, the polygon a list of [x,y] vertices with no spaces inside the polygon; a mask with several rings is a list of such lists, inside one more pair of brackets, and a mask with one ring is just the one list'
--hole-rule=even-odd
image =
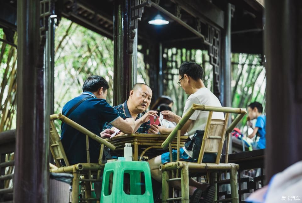
{"label": "plain navy polo shirt on man with strap across his back", "polygon": [[[115,121],[120,115],[106,100],[96,98],[91,92],[83,92],[80,96],[68,101],[63,107],[63,115],[76,105],[84,97],[83,101],[68,118],[87,128],[92,133],[100,136],[103,125]],[[87,163],[86,135],[64,123],[61,126],[61,140],[70,165]],[[90,163],[98,163],[100,144],[89,138]]]}

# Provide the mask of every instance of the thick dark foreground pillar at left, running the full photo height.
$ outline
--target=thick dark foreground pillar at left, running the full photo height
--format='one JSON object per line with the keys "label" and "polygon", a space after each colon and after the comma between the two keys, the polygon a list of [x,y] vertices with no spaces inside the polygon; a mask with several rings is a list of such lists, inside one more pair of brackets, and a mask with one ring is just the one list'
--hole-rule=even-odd
{"label": "thick dark foreground pillar at left, running the full photo height", "polygon": [[[48,202],[48,70],[40,45],[40,1],[17,4],[18,67],[14,202]],[[47,34],[46,34],[47,36]]]}

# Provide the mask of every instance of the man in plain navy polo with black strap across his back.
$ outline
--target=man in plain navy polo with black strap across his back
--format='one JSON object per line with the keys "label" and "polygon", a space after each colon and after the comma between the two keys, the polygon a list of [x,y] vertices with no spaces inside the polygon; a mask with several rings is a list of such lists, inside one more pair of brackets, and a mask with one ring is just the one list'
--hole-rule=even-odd
{"label": "man in plain navy polo with black strap across his back", "polygon": [[[119,113],[107,103],[108,88],[108,82],[103,77],[98,75],[88,77],[82,88],[83,93],[65,104],[63,115],[102,138],[107,138],[113,133],[110,130],[101,132],[106,122],[123,133],[132,133],[134,119],[132,117],[122,119]],[[69,163],[87,163],[86,136],[64,122],[61,128],[61,140]],[[100,144],[89,138],[89,150],[90,162],[98,163]]]}

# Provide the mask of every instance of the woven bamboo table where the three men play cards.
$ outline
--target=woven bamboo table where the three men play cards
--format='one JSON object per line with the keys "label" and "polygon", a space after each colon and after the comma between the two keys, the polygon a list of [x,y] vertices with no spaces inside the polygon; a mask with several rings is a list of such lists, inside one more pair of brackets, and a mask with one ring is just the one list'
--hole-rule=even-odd
{"label": "woven bamboo table where the three men play cards", "polygon": [[[168,135],[163,134],[127,134],[116,136],[111,139],[106,139],[109,143],[115,145],[115,150],[110,151],[112,156],[123,156],[125,143],[131,143],[133,149],[133,160],[138,161],[138,154],[140,154],[140,160],[143,156],[148,156],[149,159],[161,155],[169,150],[165,150],[161,147],[161,144],[165,141]],[[180,137],[180,147],[183,147],[188,136]],[[177,137],[172,141],[171,148],[177,148]]]}

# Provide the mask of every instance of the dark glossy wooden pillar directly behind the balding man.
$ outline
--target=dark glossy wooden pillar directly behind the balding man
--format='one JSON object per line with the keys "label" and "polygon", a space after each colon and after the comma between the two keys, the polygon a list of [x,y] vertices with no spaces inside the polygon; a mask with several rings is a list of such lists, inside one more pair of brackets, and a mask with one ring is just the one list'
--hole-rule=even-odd
{"label": "dark glossy wooden pillar directly behind the balding man", "polygon": [[136,81],[137,66],[132,63],[132,57],[137,57],[136,49],[129,43],[130,35],[136,34],[130,28],[131,4],[130,0],[114,1],[114,76],[113,76],[113,104],[118,105],[128,99],[129,92]]}

